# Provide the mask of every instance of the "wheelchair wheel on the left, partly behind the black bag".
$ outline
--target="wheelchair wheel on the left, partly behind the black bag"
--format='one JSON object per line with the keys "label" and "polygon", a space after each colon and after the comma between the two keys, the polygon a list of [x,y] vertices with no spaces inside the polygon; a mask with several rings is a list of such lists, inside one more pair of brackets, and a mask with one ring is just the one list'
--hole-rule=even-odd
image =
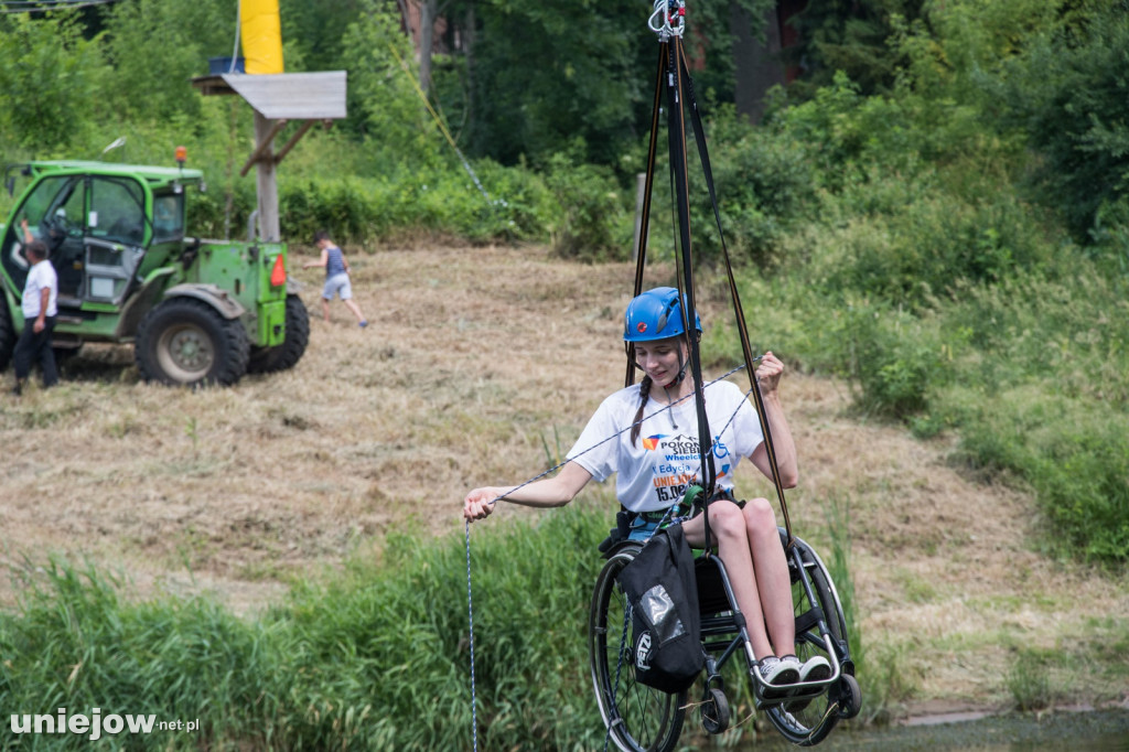
{"label": "wheelchair wheel on the left, partly behind the black bag", "polygon": [[686,693],[667,694],[634,680],[628,602],[619,574],[638,545],[620,549],[596,578],[588,617],[588,652],[599,715],[609,738],[623,752],[668,752],[682,733]]}

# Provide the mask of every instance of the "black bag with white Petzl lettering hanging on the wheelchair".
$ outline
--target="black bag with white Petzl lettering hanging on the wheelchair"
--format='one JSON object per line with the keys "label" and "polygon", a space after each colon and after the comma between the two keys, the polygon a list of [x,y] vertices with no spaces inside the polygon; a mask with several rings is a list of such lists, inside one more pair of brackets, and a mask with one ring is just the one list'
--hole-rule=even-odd
{"label": "black bag with white Petzl lettering hanging on the wheelchair", "polygon": [[636,680],[663,692],[685,690],[706,655],[694,557],[682,526],[656,531],[620,572],[620,587],[631,604]]}

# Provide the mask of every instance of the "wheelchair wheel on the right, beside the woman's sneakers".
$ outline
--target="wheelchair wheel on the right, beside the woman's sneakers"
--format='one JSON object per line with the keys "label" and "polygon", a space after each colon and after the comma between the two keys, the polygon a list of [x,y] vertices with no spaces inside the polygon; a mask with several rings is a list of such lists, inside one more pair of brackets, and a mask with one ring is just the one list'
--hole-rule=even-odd
{"label": "wheelchair wheel on the right, beside the woman's sneakers", "polygon": [[[799,575],[795,571],[791,552],[787,552],[789,569],[793,570],[793,602],[796,604],[796,655],[800,661],[822,655],[832,665],[839,664],[842,675],[823,694],[772,706],[767,709],[767,715],[777,731],[789,742],[811,746],[822,742],[840,718],[849,718],[857,714],[861,697],[857,689],[851,691],[852,687],[858,687],[858,682],[851,675],[855,667],[847,648],[847,623],[839,594],[826,567],[815,551],[799,539],[795,541],[804,570],[812,582],[812,593],[817,601],[812,603],[808,598],[806,589],[799,582]],[[814,623],[816,607],[823,613],[837,655],[828,654],[823,635]]]}

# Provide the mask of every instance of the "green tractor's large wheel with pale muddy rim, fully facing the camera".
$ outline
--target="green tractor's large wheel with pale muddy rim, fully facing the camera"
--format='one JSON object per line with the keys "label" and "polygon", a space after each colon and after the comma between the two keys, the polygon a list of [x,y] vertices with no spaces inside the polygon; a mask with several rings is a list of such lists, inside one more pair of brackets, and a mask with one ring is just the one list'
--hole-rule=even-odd
{"label": "green tractor's large wheel with pale muddy rim, fully facing the camera", "polygon": [[141,378],[174,386],[230,386],[250,356],[243,322],[195,298],[172,298],[146,314],[133,351]]}

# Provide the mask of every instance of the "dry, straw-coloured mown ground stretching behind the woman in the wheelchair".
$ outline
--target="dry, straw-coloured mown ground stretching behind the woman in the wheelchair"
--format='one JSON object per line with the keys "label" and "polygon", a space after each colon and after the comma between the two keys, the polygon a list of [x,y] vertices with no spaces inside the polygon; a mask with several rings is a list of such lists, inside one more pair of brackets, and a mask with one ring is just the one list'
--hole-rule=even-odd
{"label": "dry, straw-coloured mown ground stretching behind the woman in the wheelchair", "polygon": [[[338,301],[323,322],[320,270],[298,270],[312,334],[290,371],[169,390],[139,383],[129,349],[90,347],[56,390],[6,388],[3,563],[85,558],[141,596],[209,592],[252,613],[390,530],[462,534],[466,489],[536,474],[622,385],[629,264],[430,245],[350,259],[370,325]],[[707,325],[730,315],[701,304]],[[770,347],[787,361],[787,342]],[[829,525],[849,530],[863,639],[913,688],[907,711],[1006,705],[1015,649],[1101,639],[1097,618],[1124,635],[1124,577],[1040,556],[1030,498],[953,466],[948,439],[852,416],[849,392],[786,375],[802,473],[788,506],[817,550]],[[506,506],[488,524],[535,514],[552,513]],[[17,597],[0,583],[0,603]],[[1124,701],[1126,673],[1097,690],[1064,676],[1065,699]]]}

